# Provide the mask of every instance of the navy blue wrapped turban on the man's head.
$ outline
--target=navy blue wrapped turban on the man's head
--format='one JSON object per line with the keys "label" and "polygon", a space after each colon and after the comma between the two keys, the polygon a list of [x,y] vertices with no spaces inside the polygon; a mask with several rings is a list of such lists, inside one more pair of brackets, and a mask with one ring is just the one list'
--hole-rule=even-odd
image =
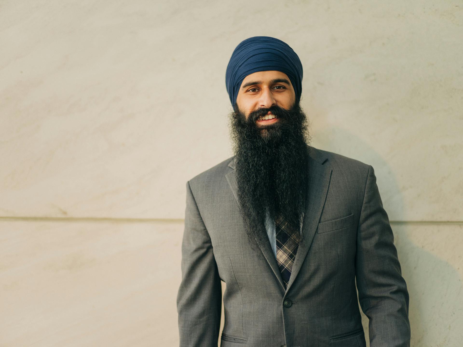
{"label": "navy blue wrapped turban on the man's head", "polygon": [[233,107],[239,87],[248,74],[257,71],[277,70],[288,75],[296,94],[302,92],[302,64],[294,50],[275,37],[255,36],[238,44],[228,62],[225,84]]}

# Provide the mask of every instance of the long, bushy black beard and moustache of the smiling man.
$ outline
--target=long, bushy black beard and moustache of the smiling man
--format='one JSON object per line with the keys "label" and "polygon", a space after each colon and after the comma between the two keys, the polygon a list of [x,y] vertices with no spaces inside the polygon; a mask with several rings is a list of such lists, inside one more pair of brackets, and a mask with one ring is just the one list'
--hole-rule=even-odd
{"label": "long, bushy black beard and moustache of the smiling man", "polygon": [[[257,126],[257,118],[269,111],[279,120]],[[292,226],[288,232],[301,241],[310,135],[299,102],[289,110],[279,106],[261,108],[251,112],[248,119],[235,106],[230,121],[238,202],[250,244],[255,245],[256,237],[267,237],[266,211],[272,221],[282,215]]]}

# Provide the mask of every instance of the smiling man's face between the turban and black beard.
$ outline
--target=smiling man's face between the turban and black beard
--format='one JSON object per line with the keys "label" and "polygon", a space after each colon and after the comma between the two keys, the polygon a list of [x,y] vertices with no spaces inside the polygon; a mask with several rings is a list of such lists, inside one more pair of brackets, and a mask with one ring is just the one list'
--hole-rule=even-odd
{"label": "smiling man's face between the turban and black beard", "polygon": [[[269,70],[248,74],[241,83],[236,103],[247,119],[251,112],[275,105],[288,110],[295,99],[296,94],[288,75],[281,71]],[[271,112],[267,112],[267,115],[271,115]],[[263,126],[278,121],[278,118],[273,118],[256,120],[256,123]]]}

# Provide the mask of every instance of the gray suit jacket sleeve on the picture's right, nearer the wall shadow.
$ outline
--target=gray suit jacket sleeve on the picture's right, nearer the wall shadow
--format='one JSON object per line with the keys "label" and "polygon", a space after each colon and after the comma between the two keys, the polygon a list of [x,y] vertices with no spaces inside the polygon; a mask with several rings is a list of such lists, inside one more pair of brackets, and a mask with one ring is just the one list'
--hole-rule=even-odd
{"label": "gray suit jacket sleeve on the picture's right, nearer the wall shadow", "polygon": [[370,347],[410,346],[407,285],[371,165],[357,230],[356,278]]}

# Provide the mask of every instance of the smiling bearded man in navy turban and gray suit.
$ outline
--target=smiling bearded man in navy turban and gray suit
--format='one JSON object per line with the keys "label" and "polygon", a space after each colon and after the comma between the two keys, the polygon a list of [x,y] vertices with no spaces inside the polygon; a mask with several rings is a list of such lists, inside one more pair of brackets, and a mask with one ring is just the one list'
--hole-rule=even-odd
{"label": "smiling bearded man in navy turban and gray suit", "polygon": [[235,155],[187,182],[181,347],[410,344],[407,285],[373,167],[308,144],[302,65],[250,37],[226,71]]}

